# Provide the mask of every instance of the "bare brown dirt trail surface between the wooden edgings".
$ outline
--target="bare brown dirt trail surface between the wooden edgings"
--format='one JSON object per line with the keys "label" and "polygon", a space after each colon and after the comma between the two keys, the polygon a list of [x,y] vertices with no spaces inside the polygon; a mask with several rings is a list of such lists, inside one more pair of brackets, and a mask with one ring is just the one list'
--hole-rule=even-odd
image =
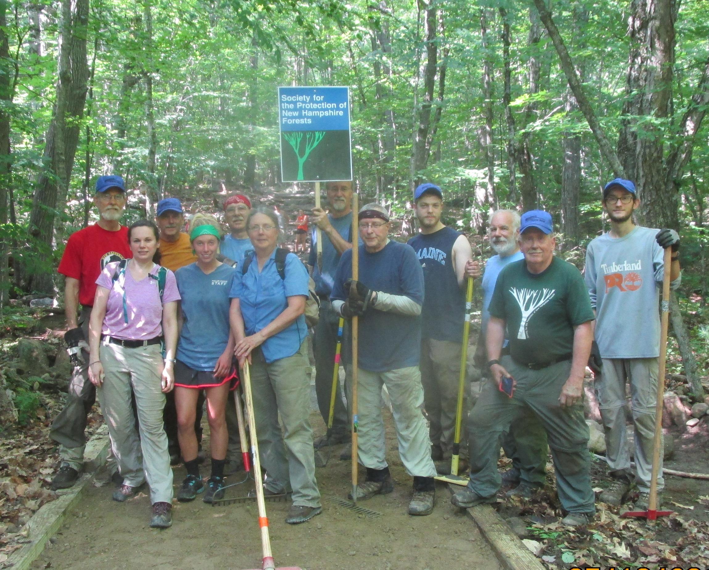
{"label": "bare brown dirt trail surface between the wooden edgings", "polygon": [[[286,525],[289,503],[267,503],[277,566],[306,570],[498,569],[496,557],[473,522],[450,504],[445,486],[437,488],[432,515],[406,514],[411,477],[398,459],[388,411],[385,418],[388,459],[396,487],[390,495],[360,503],[383,516],[363,518],[330,502],[334,496],[344,498],[350,486],[350,462],[338,459],[342,446],[336,446],[328,466],[317,471],[323,495],[321,515],[303,525]],[[324,431],[316,413],[311,421],[316,431]],[[207,471],[203,467],[202,474]],[[232,482],[240,475],[232,476]],[[176,484],[183,477],[184,470],[176,469]],[[231,488],[228,492],[240,496],[248,490],[246,484],[237,489],[240,491]],[[174,503],[172,528],[160,531],[147,527],[150,501],[145,494],[124,504],[111,501],[110,494],[110,486],[87,490],[54,544],[48,543],[33,568],[113,570],[133,569],[136,564],[165,570],[260,568],[255,503],[225,507],[211,507],[199,499]]]}

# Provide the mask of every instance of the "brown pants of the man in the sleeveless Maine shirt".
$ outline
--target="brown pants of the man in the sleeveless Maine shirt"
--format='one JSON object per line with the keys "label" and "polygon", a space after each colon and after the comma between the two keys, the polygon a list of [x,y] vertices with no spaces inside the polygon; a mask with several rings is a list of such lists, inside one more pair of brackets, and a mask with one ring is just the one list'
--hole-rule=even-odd
{"label": "brown pants of the man in the sleeveless Maine shirt", "polygon": [[[450,340],[421,340],[421,384],[423,401],[428,415],[429,433],[433,447],[440,447],[444,459],[452,455],[455,438],[455,420],[458,409],[458,384],[460,378],[460,342]],[[463,389],[463,418],[460,431],[460,455],[468,457],[468,393]]]}

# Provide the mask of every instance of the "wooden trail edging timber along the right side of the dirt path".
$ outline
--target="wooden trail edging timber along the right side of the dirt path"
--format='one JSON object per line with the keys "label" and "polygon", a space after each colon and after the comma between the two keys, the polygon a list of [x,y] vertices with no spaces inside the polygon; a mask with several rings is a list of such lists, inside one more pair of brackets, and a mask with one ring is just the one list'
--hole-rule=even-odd
{"label": "wooden trail edging timber along the right side of the dirt path", "polygon": [[466,510],[478,525],[485,540],[506,570],[545,570],[542,563],[525,547],[510,526],[490,505],[476,505]]}

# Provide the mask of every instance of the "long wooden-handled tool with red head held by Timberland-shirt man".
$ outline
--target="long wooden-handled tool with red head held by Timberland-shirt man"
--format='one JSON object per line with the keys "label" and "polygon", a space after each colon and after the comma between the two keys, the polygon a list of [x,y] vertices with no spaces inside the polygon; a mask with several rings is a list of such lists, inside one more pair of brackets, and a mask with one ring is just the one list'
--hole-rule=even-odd
{"label": "long wooden-handled tool with red head held by Timberland-shirt man", "polygon": [[664,407],[664,371],[667,357],[667,321],[669,319],[669,272],[671,249],[664,251],[664,274],[662,276],[662,313],[660,320],[660,357],[657,366],[657,403],[655,403],[655,437],[652,444],[652,479],[650,479],[650,496],[647,510],[629,510],[621,517],[647,518],[654,525],[657,517],[671,515],[671,510],[657,510],[657,477],[660,469],[660,453],[662,452],[662,408]]}

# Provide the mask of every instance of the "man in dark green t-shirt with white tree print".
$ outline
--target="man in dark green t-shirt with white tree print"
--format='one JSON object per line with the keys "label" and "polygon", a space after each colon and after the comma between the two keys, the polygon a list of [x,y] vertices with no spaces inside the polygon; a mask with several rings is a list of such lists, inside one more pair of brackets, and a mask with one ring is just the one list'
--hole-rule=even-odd
{"label": "man in dark green t-shirt with white tree print", "polygon": [[[595,513],[583,404],[593,310],[579,270],[554,257],[549,213],[523,214],[519,242],[525,259],[502,270],[490,302],[492,380],[469,417],[470,481],[452,503],[469,508],[496,501],[501,435],[531,410],[552,449],[559,501],[568,513],[562,523],[576,527]],[[510,354],[501,356],[506,330]]]}

